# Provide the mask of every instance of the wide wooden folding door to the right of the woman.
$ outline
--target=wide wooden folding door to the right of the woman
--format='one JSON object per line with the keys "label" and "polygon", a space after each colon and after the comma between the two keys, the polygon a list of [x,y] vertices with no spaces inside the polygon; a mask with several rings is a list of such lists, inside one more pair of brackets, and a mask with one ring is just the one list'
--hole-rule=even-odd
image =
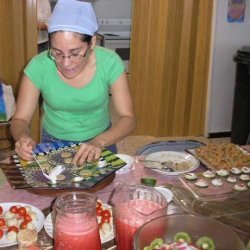
{"label": "wide wooden folding door to the right of the woman", "polygon": [[137,135],[203,135],[211,0],[134,0],[130,86]]}

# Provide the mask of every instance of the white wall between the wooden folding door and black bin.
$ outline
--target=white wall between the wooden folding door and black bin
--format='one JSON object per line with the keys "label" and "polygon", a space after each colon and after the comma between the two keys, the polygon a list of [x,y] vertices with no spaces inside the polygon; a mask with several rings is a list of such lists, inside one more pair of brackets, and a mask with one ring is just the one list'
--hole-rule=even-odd
{"label": "white wall between the wooden folding door and black bin", "polygon": [[228,23],[228,0],[217,0],[216,2],[217,14],[215,16],[207,133],[231,131],[236,71],[233,56],[242,46],[250,46],[250,0],[246,0],[243,23]]}

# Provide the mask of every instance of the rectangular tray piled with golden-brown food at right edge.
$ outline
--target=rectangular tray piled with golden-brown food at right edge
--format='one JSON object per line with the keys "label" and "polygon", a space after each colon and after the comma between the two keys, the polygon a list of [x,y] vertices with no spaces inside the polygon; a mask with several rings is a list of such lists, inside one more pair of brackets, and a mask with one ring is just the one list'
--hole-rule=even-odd
{"label": "rectangular tray piled with golden-brown food at right edge", "polygon": [[211,143],[188,150],[210,170],[249,168],[250,153],[233,143]]}

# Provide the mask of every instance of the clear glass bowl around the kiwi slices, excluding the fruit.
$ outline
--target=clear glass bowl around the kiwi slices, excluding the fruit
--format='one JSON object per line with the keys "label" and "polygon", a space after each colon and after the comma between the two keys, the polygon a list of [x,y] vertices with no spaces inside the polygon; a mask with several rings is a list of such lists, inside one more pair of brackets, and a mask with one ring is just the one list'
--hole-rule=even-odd
{"label": "clear glass bowl around the kiwi slices, excluding the fruit", "polygon": [[187,233],[192,242],[207,236],[214,241],[218,250],[245,250],[238,235],[227,225],[211,218],[196,215],[166,215],[144,224],[134,238],[134,249],[143,250],[156,238],[172,243],[179,232]]}

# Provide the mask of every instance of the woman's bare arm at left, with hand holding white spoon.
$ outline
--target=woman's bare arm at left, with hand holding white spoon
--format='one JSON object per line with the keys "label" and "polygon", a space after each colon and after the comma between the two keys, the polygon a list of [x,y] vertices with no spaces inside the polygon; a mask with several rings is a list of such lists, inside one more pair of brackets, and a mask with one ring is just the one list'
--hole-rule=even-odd
{"label": "woman's bare arm at left, with hand holding white spoon", "polygon": [[11,120],[11,134],[16,141],[16,153],[24,160],[32,159],[32,150],[36,143],[31,138],[29,125],[36,110],[40,91],[24,75],[18,94],[16,111]]}

